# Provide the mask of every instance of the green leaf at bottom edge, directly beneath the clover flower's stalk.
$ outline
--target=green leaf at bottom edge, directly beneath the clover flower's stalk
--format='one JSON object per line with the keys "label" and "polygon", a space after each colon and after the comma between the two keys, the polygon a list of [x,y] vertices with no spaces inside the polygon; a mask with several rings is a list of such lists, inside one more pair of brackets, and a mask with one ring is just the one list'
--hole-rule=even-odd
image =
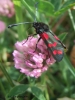
{"label": "green leaf at bottom edge, directly beneath the clover flower's stalk", "polygon": [[31,87],[31,92],[39,100],[46,100],[41,89],[33,86],[33,87]]}

